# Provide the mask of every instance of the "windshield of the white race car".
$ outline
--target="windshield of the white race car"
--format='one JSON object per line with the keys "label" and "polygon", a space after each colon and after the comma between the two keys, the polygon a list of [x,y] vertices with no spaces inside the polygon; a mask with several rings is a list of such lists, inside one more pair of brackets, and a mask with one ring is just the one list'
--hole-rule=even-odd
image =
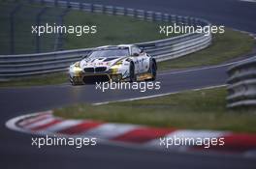
{"label": "windshield of the white race car", "polygon": [[99,57],[116,57],[116,56],[128,56],[128,48],[114,48],[114,49],[98,49],[93,51],[88,58]]}

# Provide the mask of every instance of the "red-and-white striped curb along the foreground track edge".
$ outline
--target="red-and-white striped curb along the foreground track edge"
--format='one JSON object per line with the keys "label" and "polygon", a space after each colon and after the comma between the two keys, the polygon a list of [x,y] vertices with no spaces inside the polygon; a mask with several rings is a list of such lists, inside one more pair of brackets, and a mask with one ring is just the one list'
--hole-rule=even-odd
{"label": "red-and-white striped curb along the foreground track edge", "polygon": [[[51,111],[50,111],[51,112]],[[41,119],[42,117],[47,119]],[[39,121],[41,119],[41,121]],[[33,123],[32,123],[33,122]],[[23,125],[23,126],[22,126]],[[256,156],[256,134],[254,133],[233,133],[229,131],[176,129],[162,127],[144,127],[140,125],[103,123],[91,120],[65,120],[46,113],[23,115],[9,120],[6,127],[11,129],[39,134],[39,135],[63,135],[71,137],[95,137],[101,143],[139,146],[146,149],[159,151],[178,152],[216,152],[224,154],[237,154],[245,157]],[[205,139],[224,138],[224,145],[196,146],[194,142],[189,144],[184,141],[178,146],[171,144],[168,148],[161,145],[160,139]],[[130,144],[130,145],[129,145]]]}

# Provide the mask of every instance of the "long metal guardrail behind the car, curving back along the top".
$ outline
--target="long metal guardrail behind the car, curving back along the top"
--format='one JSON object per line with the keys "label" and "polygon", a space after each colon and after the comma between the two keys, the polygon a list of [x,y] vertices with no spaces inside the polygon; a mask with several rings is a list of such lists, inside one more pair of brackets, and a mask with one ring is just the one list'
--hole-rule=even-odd
{"label": "long metal guardrail behind the car, curving back along the top", "polygon": [[[126,9],[121,7],[103,6],[87,3],[77,3],[59,0],[30,0],[30,3],[41,3],[48,7],[61,7],[80,10],[87,13],[127,15],[148,21],[163,21],[183,25],[210,25],[207,20],[174,14],[162,14],[144,10]],[[153,43],[154,46],[144,48],[156,58],[157,62],[174,59],[207,47],[211,35],[193,33],[154,42],[136,43],[144,45]],[[48,53],[0,55],[0,80],[9,80],[28,75],[45,74],[65,71],[71,63],[81,59],[82,55],[92,48],[65,50]]]}

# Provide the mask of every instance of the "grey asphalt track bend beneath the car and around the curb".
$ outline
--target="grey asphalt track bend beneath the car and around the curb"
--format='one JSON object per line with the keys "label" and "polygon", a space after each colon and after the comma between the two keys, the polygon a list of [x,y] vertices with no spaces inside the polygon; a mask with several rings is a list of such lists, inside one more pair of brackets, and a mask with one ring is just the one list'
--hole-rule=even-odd
{"label": "grey asphalt track bend beneath the car and around the curb", "polygon": [[[48,110],[76,102],[99,102],[131,99],[164,93],[197,89],[225,83],[229,66],[200,70],[165,71],[159,74],[161,90],[158,92],[109,91],[102,93],[95,86],[72,87],[69,84],[32,88],[6,88],[0,90],[1,139],[0,148],[4,168],[254,168],[255,158],[233,155],[207,155],[163,153],[123,147],[99,145],[77,150],[72,147],[32,147],[31,137],[4,127],[7,120],[18,115]],[[15,162],[14,162],[15,160]],[[185,162],[183,162],[185,161]],[[22,167],[21,167],[22,168]]]}

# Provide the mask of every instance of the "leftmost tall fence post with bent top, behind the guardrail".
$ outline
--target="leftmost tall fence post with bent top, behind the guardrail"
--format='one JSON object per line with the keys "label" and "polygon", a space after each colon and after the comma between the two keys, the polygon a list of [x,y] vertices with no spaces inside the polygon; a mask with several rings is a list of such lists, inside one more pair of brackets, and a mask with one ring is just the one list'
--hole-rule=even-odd
{"label": "leftmost tall fence post with bent top, behind the guardrail", "polygon": [[17,5],[16,8],[10,14],[10,53],[15,53],[15,14],[21,8],[21,4]]}

